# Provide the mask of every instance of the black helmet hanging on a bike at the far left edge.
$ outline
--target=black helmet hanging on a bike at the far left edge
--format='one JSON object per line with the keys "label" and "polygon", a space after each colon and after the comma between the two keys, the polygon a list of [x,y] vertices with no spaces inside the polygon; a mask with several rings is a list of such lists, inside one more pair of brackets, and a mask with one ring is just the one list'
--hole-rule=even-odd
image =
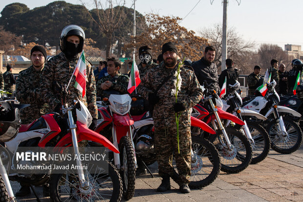
{"label": "black helmet hanging on a bike at the far left edge", "polygon": [[0,105],[0,142],[13,139],[21,126],[20,112],[8,102]]}

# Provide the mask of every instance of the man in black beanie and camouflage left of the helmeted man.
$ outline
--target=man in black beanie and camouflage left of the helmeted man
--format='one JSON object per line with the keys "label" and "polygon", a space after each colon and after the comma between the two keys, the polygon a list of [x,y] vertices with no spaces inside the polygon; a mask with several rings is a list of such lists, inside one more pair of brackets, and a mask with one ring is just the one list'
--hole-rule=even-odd
{"label": "man in black beanie and camouflage left of the helmeted man", "polygon": [[19,73],[16,83],[17,100],[24,104],[30,104],[29,107],[21,110],[22,124],[31,123],[48,112],[48,105],[43,102],[40,92],[40,80],[46,58],[45,49],[42,46],[34,46],[31,49],[33,65]]}

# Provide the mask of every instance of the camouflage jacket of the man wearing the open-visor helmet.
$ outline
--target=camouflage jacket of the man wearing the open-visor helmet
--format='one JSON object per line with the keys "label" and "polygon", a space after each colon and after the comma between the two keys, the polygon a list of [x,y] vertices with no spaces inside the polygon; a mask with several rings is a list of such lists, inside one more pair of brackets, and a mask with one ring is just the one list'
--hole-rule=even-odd
{"label": "camouflage jacket of the man wearing the open-visor helmet", "polygon": [[[43,76],[41,80],[41,93],[44,101],[50,105],[53,109],[61,103],[62,95],[55,91],[53,86],[55,82],[59,85],[67,85],[71,78],[74,69],[79,60],[80,54],[76,57],[68,60],[63,52],[52,57],[46,64],[43,70]],[[98,111],[96,105],[96,86],[93,69],[89,61],[86,61],[87,66],[87,82],[86,82],[86,94],[82,98],[82,92],[74,87],[75,76],[72,77],[70,85],[68,87],[68,95],[66,102],[70,104],[73,100],[81,100],[88,108],[91,116],[97,118]]]}

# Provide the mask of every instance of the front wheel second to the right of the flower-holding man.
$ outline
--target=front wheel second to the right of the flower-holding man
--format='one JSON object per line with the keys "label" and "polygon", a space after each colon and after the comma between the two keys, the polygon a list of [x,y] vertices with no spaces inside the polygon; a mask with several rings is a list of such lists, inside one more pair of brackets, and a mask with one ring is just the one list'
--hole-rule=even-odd
{"label": "front wheel second to the right of the flower-holding man", "polygon": [[234,146],[229,151],[223,137],[223,144],[218,140],[218,135],[210,135],[209,140],[215,145],[220,155],[221,170],[226,173],[239,173],[250,164],[252,159],[252,147],[242,133],[234,128],[225,128],[231,144]]}

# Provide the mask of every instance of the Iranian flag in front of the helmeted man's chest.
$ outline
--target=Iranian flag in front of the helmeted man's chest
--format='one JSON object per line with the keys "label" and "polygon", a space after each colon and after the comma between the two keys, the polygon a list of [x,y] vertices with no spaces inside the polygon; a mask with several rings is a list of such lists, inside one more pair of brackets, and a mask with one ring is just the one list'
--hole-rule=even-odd
{"label": "Iranian flag in front of the helmeted man's chest", "polygon": [[84,50],[81,53],[73,74],[76,76],[74,87],[80,90],[82,92],[82,97],[84,97],[87,84],[87,66],[85,65]]}

